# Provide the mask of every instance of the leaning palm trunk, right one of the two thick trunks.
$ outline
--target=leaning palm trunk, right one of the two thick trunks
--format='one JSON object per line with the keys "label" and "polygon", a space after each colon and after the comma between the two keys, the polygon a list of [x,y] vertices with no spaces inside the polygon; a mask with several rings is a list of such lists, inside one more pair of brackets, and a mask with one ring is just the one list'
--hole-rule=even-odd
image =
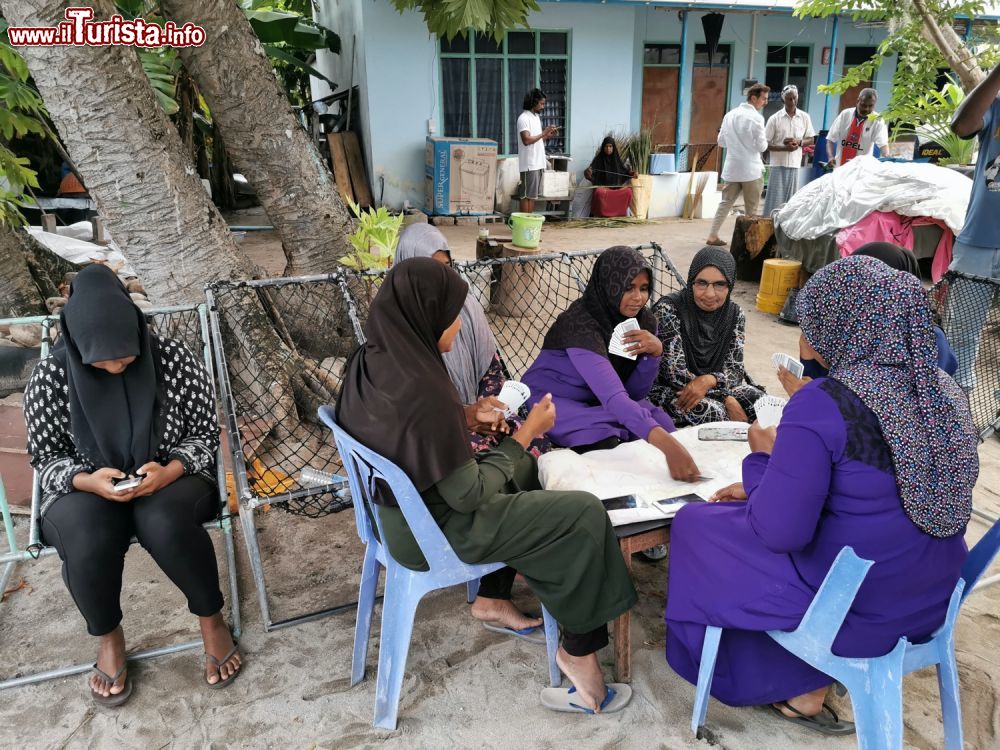
{"label": "leaning palm trunk, right one of the two thick trunks", "polygon": [[291,112],[260,40],[234,0],[163,0],[165,15],[205,29],[180,50],[229,155],[281,235],[288,276],[328,273],[348,250],[350,216],[330,170]]}

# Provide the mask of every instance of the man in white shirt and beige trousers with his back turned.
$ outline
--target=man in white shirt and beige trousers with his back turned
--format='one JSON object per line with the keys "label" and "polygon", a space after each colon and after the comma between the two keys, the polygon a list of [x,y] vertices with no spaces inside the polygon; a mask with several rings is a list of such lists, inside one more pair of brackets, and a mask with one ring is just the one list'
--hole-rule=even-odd
{"label": "man in white shirt and beige trousers with his back turned", "polygon": [[747,216],[757,213],[760,193],[764,189],[764,162],[760,155],[767,150],[764,136],[764,118],[760,114],[767,104],[771,89],[757,83],[747,90],[747,100],[732,109],[722,118],[719,129],[719,145],[726,149],[726,164],[722,167],[722,179],[726,186],[722,189],[722,203],[715,212],[712,228],[708,230],[708,245],[725,245],[719,239],[719,228],[729,216],[736,198],[743,194],[743,206]]}

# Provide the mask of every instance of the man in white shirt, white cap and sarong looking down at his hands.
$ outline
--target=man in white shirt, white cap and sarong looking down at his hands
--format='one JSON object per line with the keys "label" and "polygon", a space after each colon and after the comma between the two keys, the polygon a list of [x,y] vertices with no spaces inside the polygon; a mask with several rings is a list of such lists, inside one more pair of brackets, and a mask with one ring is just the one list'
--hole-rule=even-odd
{"label": "man in white shirt, white cap and sarong looking down at his hands", "polygon": [[764,126],[771,159],[764,216],[773,214],[795,195],[799,188],[802,147],[811,146],[816,140],[809,113],[798,108],[798,87],[794,84],[785,86],[781,90],[781,101],[785,104],[784,108],[767,118],[767,125]]}

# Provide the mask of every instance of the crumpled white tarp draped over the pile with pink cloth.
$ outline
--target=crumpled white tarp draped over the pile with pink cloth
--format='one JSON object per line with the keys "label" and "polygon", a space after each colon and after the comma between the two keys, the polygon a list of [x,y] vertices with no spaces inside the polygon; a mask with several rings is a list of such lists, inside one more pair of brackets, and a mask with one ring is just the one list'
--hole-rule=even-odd
{"label": "crumpled white tarp draped over the pile with pink cloth", "polygon": [[895,211],[940,219],[957,236],[971,192],[972,180],[953,169],[859,156],[800,189],[775,223],[794,240],[813,240],[873,211]]}

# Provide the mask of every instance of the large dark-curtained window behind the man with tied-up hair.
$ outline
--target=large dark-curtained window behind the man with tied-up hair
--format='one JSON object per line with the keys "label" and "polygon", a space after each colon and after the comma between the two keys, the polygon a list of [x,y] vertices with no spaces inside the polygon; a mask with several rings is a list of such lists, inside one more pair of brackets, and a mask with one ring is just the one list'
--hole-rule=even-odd
{"label": "large dark-curtained window behind the man with tied-up hair", "polygon": [[516,154],[514,124],[524,95],[540,88],[547,97],[542,127],[559,131],[549,153],[569,144],[569,33],[509,31],[501,42],[468,34],[441,40],[441,120],[453,138],[489,138],[501,154]]}

